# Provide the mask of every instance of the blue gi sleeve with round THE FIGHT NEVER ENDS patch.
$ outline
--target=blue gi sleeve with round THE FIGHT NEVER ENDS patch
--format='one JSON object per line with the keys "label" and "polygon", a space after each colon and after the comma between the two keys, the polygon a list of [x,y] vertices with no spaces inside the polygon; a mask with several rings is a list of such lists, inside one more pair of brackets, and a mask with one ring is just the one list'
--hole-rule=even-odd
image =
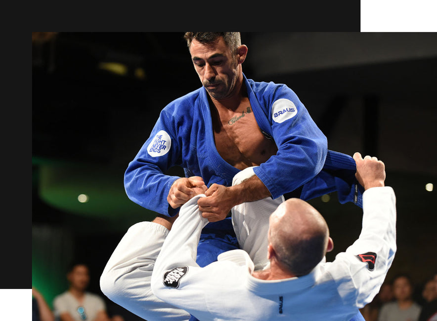
{"label": "blue gi sleeve with round THE FIGHT NEVER ENDS patch", "polygon": [[129,199],[149,210],[174,216],[167,196],[178,176],[165,175],[180,163],[181,146],[177,139],[173,115],[164,109],[152,132],[124,175],[125,191]]}

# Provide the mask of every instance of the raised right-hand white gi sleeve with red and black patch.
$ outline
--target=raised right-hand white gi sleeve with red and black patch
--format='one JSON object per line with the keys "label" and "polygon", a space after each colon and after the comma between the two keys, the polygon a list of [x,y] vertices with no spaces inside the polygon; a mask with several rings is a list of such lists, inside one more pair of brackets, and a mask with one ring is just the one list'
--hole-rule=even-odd
{"label": "raised right-hand white gi sleeve with red and black patch", "polygon": [[360,236],[328,268],[345,304],[362,308],[379,292],[396,252],[395,203],[394,191],[388,186],[363,194]]}

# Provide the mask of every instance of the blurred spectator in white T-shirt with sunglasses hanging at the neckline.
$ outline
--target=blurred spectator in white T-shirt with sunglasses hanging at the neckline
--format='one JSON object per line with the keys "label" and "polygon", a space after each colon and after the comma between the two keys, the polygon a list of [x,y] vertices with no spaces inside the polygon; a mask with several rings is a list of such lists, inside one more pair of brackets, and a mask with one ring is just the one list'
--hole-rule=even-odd
{"label": "blurred spectator in white T-shirt with sunglasses hanging at the neckline", "polygon": [[124,321],[122,316],[109,318],[103,298],[87,292],[89,269],[87,264],[73,263],[67,272],[69,289],[53,300],[55,315],[60,321]]}

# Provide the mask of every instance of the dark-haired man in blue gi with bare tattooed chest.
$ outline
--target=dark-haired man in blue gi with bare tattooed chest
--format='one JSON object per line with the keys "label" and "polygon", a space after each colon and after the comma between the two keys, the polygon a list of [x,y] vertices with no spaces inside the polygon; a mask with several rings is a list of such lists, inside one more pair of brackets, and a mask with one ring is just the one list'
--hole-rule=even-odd
{"label": "dark-haired man in blue gi with bare tattooed chest", "polygon": [[[293,192],[309,200],[333,191],[339,201],[361,206],[355,162],[327,149],[327,139],[298,96],[284,84],[247,79],[248,48],[240,33],[184,35],[202,87],[170,102],[125,173],[131,201],[174,217],[206,185],[198,205],[209,224],[197,251],[200,266],[238,248],[230,209]],[[166,175],[178,165],[185,177]],[[255,175],[237,186],[239,171]]]}

